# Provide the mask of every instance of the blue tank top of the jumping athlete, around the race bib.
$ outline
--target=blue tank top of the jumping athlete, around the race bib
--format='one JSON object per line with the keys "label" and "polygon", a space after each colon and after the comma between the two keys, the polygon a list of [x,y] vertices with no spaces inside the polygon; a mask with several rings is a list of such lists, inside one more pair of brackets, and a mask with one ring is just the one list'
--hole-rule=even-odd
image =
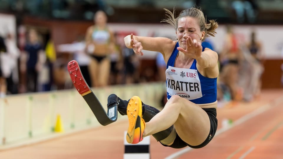
{"label": "blue tank top of the jumping athlete, around the race bib", "polygon": [[[177,50],[177,47],[179,47],[178,42],[177,42],[177,44],[176,44],[168,62],[167,62],[167,69],[168,69],[169,66],[174,67],[174,65],[175,65],[175,60],[176,60],[178,52],[179,52]],[[203,51],[204,51],[204,49],[205,49],[205,47],[203,47]],[[198,72],[196,64],[197,64],[197,61],[194,59],[190,69],[195,69]],[[195,104],[206,104],[206,103],[215,102],[217,100],[217,78],[204,77],[203,75],[200,74],[200,72],[198,72],[198,77],[199,77],[199,80],[200,80],[200,88],[201,88],[201,92],[202,92],[202,97],[197,98],[197,99],[193,99],[193,100],[190,100],[190,101],[195,103]],[[166,85],[168,85],[167,81],[166,81]],[[171,96],[169,95],[168,92],[167,92],[167,98],[168,99],[171,98]]]}

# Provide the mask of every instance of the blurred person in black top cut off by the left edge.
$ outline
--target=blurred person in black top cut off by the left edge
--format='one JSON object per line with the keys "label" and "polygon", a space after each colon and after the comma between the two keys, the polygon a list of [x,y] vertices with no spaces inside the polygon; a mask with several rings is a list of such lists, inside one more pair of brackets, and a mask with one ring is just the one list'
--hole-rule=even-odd
{"label": "blurred person in black top cut off by the left edge", "polygon": [[6,96],[7,92],[7,85],[6,85],[6,78],[4,74],[4,64],[3,64],[3,55],[6,54],[7,48],[5,45],[4,38],[0,36],[0,98]]}

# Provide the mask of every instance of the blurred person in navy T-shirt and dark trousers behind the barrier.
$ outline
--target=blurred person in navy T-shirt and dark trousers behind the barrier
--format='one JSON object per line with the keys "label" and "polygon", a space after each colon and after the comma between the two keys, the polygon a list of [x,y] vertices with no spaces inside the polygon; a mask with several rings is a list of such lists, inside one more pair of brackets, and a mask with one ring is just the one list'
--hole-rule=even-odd
{"label": "blurred person in navy T-shirt and dark trousers behind the barrier", "polygon": [[38,33],[35,29],[30,29],[28,33],[28,43],[24,47],[27,55],[27,92],[37,92],[38,73],[42,70],[45,62],[45,53],[39,41]]}

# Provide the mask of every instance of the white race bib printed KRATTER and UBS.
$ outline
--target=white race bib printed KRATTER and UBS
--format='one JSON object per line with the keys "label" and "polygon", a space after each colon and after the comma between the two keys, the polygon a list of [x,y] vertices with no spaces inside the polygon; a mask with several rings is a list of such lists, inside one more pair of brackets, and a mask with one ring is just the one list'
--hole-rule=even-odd
{"label": "white race bib printed KRATTER and UBS", "polygon": [[169,66],[166,69],[167,92],[170,96],[179,95],[187,100],[202,97],[200,79],[196,69]]}

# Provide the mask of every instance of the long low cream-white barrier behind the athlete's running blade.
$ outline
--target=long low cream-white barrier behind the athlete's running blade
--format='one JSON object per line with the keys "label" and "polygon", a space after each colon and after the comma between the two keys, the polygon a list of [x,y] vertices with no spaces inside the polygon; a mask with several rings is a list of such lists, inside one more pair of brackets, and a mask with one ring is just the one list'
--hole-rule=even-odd
{"label": "long low cream-white barrier behind the athlete's running blade", "polygon": [[[116,85],[92,91],[106,112],[107,97],[112,93],[124,100],[137,95],[148,105],[160,107],[165,83]],[[0,99],[0,146],[55,133],[58,115],[65,132],[100,126],[75,89],[8,95]]]}

